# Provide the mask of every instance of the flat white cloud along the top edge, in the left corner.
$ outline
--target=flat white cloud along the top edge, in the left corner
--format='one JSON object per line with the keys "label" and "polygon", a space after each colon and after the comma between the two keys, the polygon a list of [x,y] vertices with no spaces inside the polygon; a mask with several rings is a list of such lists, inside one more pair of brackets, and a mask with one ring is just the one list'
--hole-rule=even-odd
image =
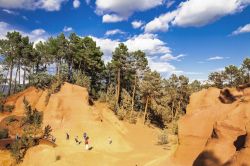
{"label": "flat white cloud along the top edge, in the left corner", "polygon": [[1,0],[0,7],[11,9],[45,9],[47,11],[58,11],[62,3],[68,0]]}

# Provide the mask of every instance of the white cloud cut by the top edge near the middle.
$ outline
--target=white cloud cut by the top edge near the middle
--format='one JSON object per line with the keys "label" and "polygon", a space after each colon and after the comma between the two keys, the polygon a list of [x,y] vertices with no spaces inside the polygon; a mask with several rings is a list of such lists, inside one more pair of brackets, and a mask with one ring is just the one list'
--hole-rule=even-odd
{"label": "white cloud cut by the top edge near the middle", "polygon": [[164,0],[96,0],[96,12],[101,15],[116,15],[120,18],[116,19],[118,22],[128,19],[136,11],[151,9],[163,2]]}

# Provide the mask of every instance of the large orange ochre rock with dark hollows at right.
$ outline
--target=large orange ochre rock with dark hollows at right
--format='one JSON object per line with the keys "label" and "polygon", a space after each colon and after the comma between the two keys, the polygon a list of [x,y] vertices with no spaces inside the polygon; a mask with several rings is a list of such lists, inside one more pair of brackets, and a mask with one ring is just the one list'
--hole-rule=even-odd
{"label": "large orange ochre rock with dark hollows at right", "polygon": [[204,89],[179,120],[174,166],[250,165],[250,88]]}

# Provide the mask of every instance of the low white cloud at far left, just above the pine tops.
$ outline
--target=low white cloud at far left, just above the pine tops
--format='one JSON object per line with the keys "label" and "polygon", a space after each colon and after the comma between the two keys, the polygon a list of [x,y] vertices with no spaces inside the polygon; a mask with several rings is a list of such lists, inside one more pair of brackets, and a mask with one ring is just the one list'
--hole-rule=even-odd
{"label": "low white cloud at far left, just above the pine tops", "polygon": [[48,34],[43,29],[35,29],[31,32],[24,32],[20,29],[14,28],[6,22],[0,22],[0,39],[5,38],[7,32],[18,31],[23,36],[29,36],[30,41],[38,43],[39,41],[45,41],[48,38]]}

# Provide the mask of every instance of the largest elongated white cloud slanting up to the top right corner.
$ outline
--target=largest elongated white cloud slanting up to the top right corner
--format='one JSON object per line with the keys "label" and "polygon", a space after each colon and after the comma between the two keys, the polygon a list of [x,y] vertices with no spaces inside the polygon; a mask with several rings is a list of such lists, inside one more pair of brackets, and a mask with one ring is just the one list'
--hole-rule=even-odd
{"label": "largest elongated white cloud slanting up to the top right corner", "polygon": [[146,24],[145,32],[167,31],[170,26],[204,26],[226,15],[241,12],[248,5],[250,0],[187,0],[181,2],[176,10]]}

